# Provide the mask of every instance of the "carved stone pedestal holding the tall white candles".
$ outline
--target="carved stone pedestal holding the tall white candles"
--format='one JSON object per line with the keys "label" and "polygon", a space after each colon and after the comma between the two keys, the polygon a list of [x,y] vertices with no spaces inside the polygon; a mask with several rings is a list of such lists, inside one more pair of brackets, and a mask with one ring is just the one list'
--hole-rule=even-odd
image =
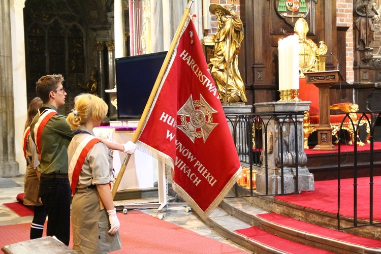
{"label": "carved stone pedestal holding the tall white candles", "polygon": [[[309,109],[309,102],[267,102],[254,104],[256,113],[264,113],[262,165],[257,172],[257,192],[266,193],[266,168],[268,169],[268,194],[281,194],[281,155],[283,157],[283,187],[284,194],[295,192],[296,186],[296,156],[298,158],[299,190],[314,190],[313,174],[307,167],[307,155],[303,148],[303,114],[297,119],[283,116],[273,117],[276,113],[304,112]],[[295,117],[293,117],[295,118]],[[298,154],[295,147],[295,123],[298,136]],[[267,131],[267,137],[265,136]],[[282,140],[280,140],[282,131]],[[265,139],[267,138],[267,150]],[[282,141],[282,142],[280,142]],[[265,160],[267,155],[267,161]]]}

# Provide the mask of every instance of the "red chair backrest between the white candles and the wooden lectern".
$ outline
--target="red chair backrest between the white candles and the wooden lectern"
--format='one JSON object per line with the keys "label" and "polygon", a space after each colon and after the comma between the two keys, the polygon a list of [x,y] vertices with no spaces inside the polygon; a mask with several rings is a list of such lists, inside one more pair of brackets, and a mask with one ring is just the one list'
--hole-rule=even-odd
{"label": "red chair backrest between the white candles and the wooden lectern", "polygon": [[299,99],[310,101],[309,114],[319,115],[319,88],[314,84],[306,84],[306,79],[299,79]]}

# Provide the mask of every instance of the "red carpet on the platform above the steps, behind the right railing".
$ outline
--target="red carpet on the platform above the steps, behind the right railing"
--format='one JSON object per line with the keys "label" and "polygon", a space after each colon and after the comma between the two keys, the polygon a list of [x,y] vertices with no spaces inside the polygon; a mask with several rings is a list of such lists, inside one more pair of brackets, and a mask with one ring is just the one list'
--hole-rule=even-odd
{"label": "red carpet on the platform above the steps, behind the right railing", "polygon": [[[381,176],[373,178],[373,219],[381,221],[381,202],[377,193],[381,193]],[[369,219],[369,177],[357,180],[357,217]],[[341,179],[340,215],[354,216],[353,178]],[[287,203],[324,212],[337,213],[337,180],[316,181],[314,191],[302,191],[301,194],[275,196]]]}

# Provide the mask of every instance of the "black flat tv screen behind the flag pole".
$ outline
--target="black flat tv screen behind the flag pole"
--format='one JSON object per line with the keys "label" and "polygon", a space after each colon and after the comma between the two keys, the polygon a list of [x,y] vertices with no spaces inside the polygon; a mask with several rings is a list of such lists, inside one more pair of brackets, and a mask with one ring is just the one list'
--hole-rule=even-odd
{"label": "black flat tv screen behind the flag pole", "polygon": [[118,119],[140,119],[167,51],[115,59]]}

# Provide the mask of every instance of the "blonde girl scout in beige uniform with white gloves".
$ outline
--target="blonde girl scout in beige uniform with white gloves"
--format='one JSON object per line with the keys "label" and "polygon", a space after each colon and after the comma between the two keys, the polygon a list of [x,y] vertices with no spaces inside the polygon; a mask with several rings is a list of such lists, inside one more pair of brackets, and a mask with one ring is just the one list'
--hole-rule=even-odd
{"label": "blonde girl scout in beige uniform with white gloves", "polygon": [[[98,142],[92,132],[94,127],[100,126],[107,109],[102,99],[88,93],[80,94],[75,99],[74,111],[67,118],[71,129],[76,130],[68,156],[69,180],[74,194],[73,249],[80,253],[121,249],[120,224],[109,185],[113,179],[112,157],[106,145]],[[131,141],[124,146],[128,153],[135,151]]]}

